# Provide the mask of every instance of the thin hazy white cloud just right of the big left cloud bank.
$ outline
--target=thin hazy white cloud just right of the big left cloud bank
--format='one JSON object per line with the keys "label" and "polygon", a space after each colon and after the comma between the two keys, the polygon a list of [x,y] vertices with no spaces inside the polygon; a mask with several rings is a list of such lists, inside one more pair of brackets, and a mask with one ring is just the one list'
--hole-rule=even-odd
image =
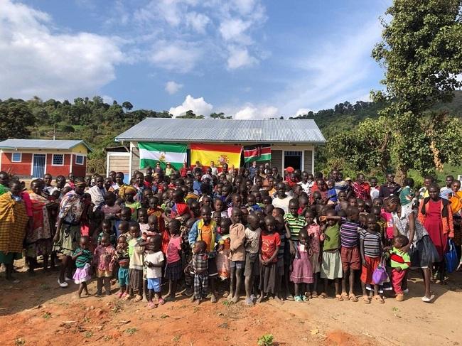
{"label": "thin hazy white cloud just right of the big left cloud bank", "polygon": [[190,72],[198,63],[202,54],[200,48],[194,43],[163,41],[153,47],[153,53],[149,60],[154,65],[166,70]]}

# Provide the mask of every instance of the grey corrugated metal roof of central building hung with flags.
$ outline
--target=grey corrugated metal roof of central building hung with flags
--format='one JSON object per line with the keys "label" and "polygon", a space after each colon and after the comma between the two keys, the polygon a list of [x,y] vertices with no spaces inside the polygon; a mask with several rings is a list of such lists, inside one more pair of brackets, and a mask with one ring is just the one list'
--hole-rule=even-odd
{"label": "grey corrugated metal roof of central building hung with flags", "polygon": [[316,122],[291,119],[146,118],[116,141],[200,141],[203,143],[325,143]]}

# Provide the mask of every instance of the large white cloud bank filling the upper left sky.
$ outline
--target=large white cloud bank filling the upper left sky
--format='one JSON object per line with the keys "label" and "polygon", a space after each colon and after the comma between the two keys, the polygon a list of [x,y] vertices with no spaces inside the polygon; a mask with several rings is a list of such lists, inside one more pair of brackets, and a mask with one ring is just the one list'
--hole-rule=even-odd
{"label": "large white cloud bank filling the upper left sky", "polygon": [[124,60],[117,40],[56,33],[43,11],[9,0],[0,7],[0,98],[73,98],[115,79],[114,66]]}

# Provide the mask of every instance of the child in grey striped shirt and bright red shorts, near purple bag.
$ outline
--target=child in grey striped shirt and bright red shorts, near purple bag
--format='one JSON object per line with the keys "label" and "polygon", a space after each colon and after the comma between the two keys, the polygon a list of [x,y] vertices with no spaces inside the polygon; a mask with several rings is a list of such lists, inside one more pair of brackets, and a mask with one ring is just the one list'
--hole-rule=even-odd
{"label": "child in grey striped shirt and bright red shorts, near purple bag", "polygon": [[366,217],[366,229],[360,231],[360,251],[362,259],[361,288],[362,301],[369,304],[369,296],[366,291],[366,284],[374,285],[374,299],[377,303],[385,303],[379,294],[379,283],[372,280],[372,274],[380,264],[382,258],[382,235],[377,232],[377,220],[374,214]]}

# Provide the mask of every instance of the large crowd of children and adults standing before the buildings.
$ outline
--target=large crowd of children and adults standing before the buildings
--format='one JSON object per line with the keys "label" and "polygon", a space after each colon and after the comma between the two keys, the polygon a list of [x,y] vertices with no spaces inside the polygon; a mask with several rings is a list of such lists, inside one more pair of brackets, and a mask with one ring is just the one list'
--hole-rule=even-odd
{"label": "large crowd of children and adults standing before the buildings", "polygon": [[429,303],[431,282],[446,282],[448,239],[460,258],[462,191],[452,176],[442,188],[426,177],[414,191],[412,179],[401,186],[392,173],[379,185],[362,173],[353,181],[338,169],[279,173],[254,162],[240,170],[185,163],[178,171],[158,163],[129,184],[124,178],[45,174],[25,186],[0,172],[6,279],[25,256],[31,275],[60,261],[58,285],[74,281],[79,297],[95,278],[98,296],[117,283],[119,298],[145,297],[149,308],[179,291],[197,303],[237,302],[242,288],[249,306],[331,291],[355,302],[358,281],[364,303],[384,303],[387,291],[403,301],[409,269],[421,269]]}

